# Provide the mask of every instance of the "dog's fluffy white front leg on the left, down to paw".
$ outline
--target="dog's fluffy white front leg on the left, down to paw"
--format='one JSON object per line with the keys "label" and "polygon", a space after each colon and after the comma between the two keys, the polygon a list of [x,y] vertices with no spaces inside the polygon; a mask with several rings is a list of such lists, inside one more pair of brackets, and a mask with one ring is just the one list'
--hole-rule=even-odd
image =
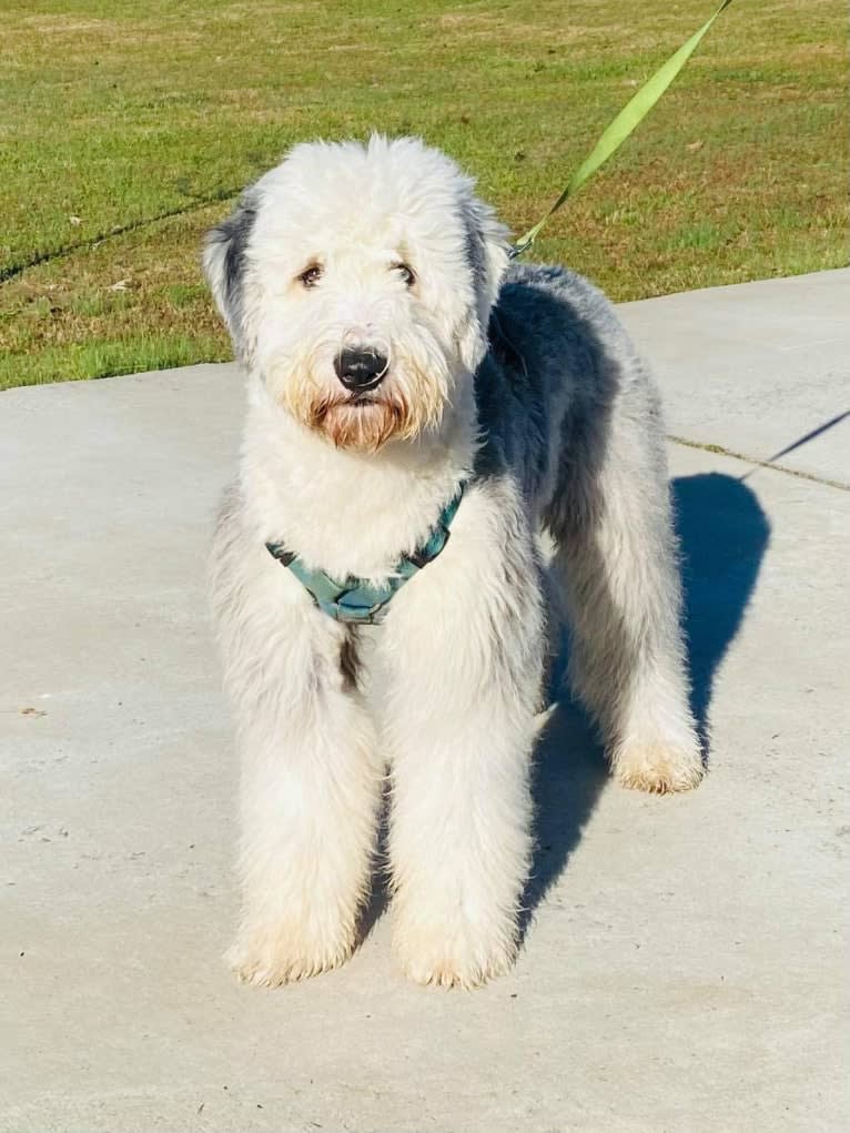
{"label": "dog's fluffy white front leg on the left, down to paw", "polygon": [[288,605],[261,608],[270,596],[255,588],[219,611],[243,760],[243,911],[228,960],[266,986],[350,955],[383,780],[341,656],[347,631],[284,581]]}

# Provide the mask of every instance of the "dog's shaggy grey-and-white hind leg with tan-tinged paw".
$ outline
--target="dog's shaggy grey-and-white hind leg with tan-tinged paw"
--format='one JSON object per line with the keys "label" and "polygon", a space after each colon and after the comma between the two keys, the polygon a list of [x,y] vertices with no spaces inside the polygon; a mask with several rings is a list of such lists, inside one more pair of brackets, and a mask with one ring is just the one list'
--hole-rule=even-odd
{"label": "dog's shaggy grey-and-white hind leg with tan-tinged paw", "polygon": [[643,375],[604,428],[568,443],[551,526],[571,628],[570,682],[602,729],[620,783],[687,790],[703,763],[688,702],[664,438]]}

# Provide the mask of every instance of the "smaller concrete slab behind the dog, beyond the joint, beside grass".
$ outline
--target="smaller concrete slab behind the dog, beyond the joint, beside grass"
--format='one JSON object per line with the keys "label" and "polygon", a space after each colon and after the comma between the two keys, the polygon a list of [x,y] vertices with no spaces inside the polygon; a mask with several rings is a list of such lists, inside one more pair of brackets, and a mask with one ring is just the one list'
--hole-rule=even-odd
{"label": "smaller concrete slab behind the dog, beyond the joint, beside grass", "polygon": [[620,314],[653,363],[672,434],[850,484],[850,269]]}

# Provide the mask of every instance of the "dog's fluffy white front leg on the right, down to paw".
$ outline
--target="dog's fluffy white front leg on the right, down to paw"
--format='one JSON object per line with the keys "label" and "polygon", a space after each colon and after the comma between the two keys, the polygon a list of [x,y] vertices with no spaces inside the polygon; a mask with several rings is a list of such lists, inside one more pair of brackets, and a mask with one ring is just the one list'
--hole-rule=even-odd
{"label": "dog's fluffy white front leg on the right, down to paw", "polygon": [[418,982],[469,988],[515,957],[532,845],[544,632],[511,493],[469,492],[443,555],[397,602],[384,627],[394,948]]}

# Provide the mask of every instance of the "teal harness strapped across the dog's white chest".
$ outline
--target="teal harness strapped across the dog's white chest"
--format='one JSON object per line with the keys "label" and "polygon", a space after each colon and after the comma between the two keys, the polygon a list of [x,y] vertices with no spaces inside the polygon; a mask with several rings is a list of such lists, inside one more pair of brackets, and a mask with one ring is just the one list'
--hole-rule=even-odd
{"label": "teal harness strapped across the dog's white chest", "polygon": [[449,540],[449,528],[464,499],[466,484],[458,487],[454,497],[443,508],[436,527],[422,546],[411,555],[402,555],[396,563],[392,576],[383,586],[368,586],[363,579],[349,574],[342,581],[331,578],[323,570],[308,570],[298,555],[287,551],[282,543],[266,543],[269,553],[282,566],[289,568],[313,604],[338,622],[354,622],[358,625],[377,625],[383,621],[393,595],[414,574],[427,566],[441,553]]}

